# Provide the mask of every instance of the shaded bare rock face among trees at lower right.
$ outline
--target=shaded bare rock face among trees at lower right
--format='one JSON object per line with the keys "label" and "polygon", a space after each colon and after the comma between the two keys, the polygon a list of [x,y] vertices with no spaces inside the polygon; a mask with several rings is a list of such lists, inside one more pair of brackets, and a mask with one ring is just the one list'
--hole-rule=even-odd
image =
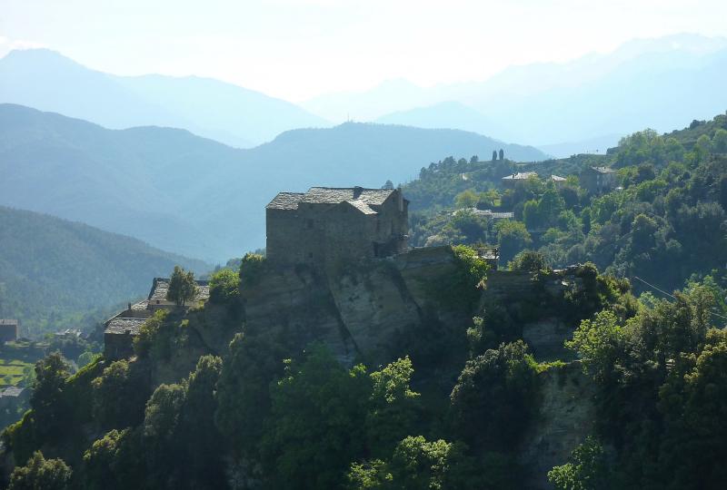
{"label": "shaded bare rock face among trees at lower right", "polygon": [[529,489],[552,488],[547,474],[568,461],[571,452],[592,433],[595,386],[580,362],[553,367],[540,374],[541,403],[523,438],[520,463],[527,468]]}

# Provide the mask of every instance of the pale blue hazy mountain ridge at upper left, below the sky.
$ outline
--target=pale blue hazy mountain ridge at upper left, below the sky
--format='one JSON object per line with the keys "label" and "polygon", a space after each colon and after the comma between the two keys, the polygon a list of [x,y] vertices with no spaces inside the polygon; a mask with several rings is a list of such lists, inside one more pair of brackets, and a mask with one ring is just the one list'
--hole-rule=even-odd
{"label": "pale blue hazy mountain ridge at upper left, below the sky", "polygon": [[236,147],[280,132],[329,122],[294,103],[200,77],[117,76],[86,68],[46,49],[0,59],[0,103],[62,113],[112,129],[183,128]]}

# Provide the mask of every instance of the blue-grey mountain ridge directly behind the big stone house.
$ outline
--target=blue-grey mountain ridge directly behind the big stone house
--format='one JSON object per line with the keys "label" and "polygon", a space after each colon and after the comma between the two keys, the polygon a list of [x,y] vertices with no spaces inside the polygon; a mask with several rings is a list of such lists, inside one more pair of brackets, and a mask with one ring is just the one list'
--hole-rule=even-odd
{"label": "blue-grey mountain ridge directly behind the big stone house", "polygon": [[0,104],[0,204],[83,221],[162,250],[224,262],[264,246],[264,206],[314,185],[412,180],[449,155],[517,161],[539,150],[473,132],[346,123],[239,150],[184,130],[108,130]]}

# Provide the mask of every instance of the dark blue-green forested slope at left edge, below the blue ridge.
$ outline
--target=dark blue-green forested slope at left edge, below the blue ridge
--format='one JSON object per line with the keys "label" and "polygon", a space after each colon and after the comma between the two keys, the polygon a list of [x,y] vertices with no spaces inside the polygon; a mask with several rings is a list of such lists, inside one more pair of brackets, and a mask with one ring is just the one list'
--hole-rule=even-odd
{"label": "dark blue-green forested slope at left edge, below the blue ridge", "polygon": [[20,319],[25,335],[91,327],[146,296],[175,264],[209,269],[129,237],[0,207],[0,318]]}

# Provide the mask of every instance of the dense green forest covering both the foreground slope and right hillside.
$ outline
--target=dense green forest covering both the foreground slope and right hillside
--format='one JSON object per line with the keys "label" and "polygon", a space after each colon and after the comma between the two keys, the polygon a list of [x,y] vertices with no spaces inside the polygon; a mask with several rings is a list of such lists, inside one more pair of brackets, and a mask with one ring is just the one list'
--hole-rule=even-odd
{"label": "dense green forest covering both the foreground slope and right hillside", "polygon": [[[248,327],[248,293],[273,269],[247,254],[239,270],[214,272],[204,306],[148,320],[134,358],[99,357],[74,375],[60,355],[39,361],[32,408],[2,436],[16,464],[8,487],[523,488],[520,451],[539,422],[543,377],[572,383],[573,369],[595,423],[549,468],[550,485],[722,488],[725,152],[720,115],[634,133],[606,155],[531,165],[566,177],[559,185],[543,172],[503,190],[503,175],[531,167],[499,155],[433,164],[404,188],[413,240],[457,244],[457,273],[423,288],[471,321],[443,328],[428,308],[386,346],[387,362],[342,363],[325,338]],[[617,169],[617,189],[581,189],[577,170],[596,164]],[[480,300],[495,273],[461,243],[499,244],[502,269],[535,292]],[[575,262],[575,286],[554,300],[563,277],[553,268]],[[523,323],[545,318],[568,328],[557,358],[523,340]]]}

